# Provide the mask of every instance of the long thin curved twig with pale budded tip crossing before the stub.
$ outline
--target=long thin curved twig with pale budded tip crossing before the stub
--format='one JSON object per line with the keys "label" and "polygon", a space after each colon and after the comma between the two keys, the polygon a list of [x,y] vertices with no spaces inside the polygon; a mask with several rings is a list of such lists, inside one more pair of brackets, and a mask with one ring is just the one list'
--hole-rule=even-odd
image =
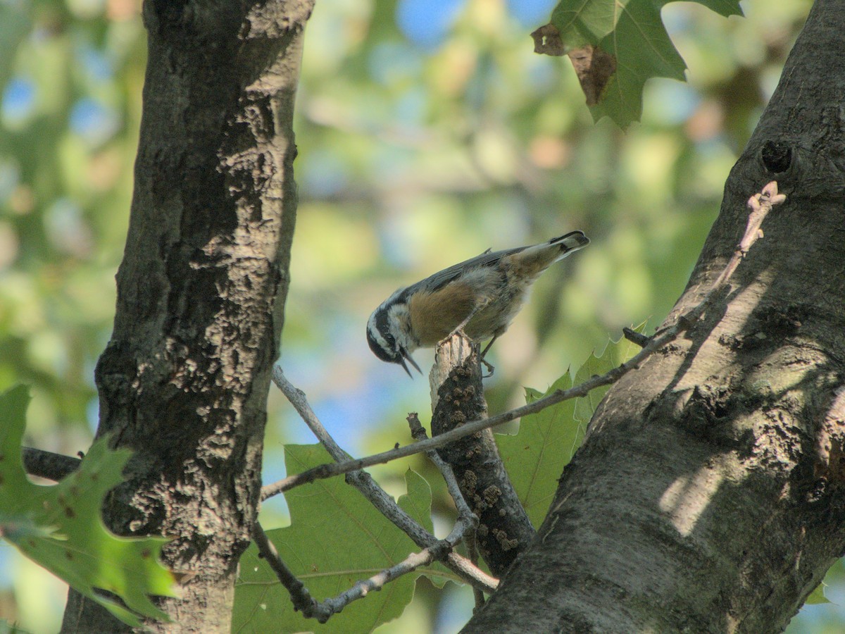
{"label": "long thin curved twig with pale budded tip crossing before the stub", "polygon": [[[516,407],[509,412],[500,413],[496,416],[483,418],[482,420],[461,425],[459,428],[452,429],[444,434],[429,438],[428,440],[421,440],[412,445],[391,449],[390,451],[382,451],[381,453],[373,454],[372,456],[365,456],[363,458],[356,458],[345,462],[337,462],[335,464],[319,465],[318,467],[313,467],[307,471],[303,471],[303,473],[288,476],[287,478],[283,478],[273,484],[268,484],[262,487],[261,499],[266,500],[267,498],[273,495],[278,495],[287,489],[292,489],[300,484],[308,484],[309,482],[313,482],[317,479],[331,478],[336,475],[341,475],[341,473],[350,473],[365,467],[372,467],[376,464],[382,464],[399,458],[413,456],[414,454],[422,453],[423,451],[436,449],[437,447],[448,445],[459,438],[463,438],[464,436],[476,434],[482,429],[488,429],[496,427],[497,425],[509,423],[516,418],[540,412],[546,407],[550,407],[559,402],[586,396],[590,391],[595,390],[597,387],[610,385],[616,382],[619,378],[624,376],[624,374],[628,374],[632,369],[638,368],[640,364],[646,360],[646,358],[651,356],[651,354],[655,353],[666,344],[673,342],[682,331],[689,328],[690,325],[695,323],[702,314],[704,314],[708,309],[711,309],[712,304],[715,303],[718,297],[717,291],[721,290],[722,287],[728,283],[733,275],[733,271],[735,271],[737,265],[739,265],[739,261],[743,259],[744,254],[748,253],[751,246],[762,235],[760,225],[768,212],[771,211],[773,206],[780,205],[785,199],[786,196],[784,194],[777,193],[777,183],[775,181],[768,183],[760,194],[752,196],[748,202],[748,205],[751,208],[751,213],[749,215],[748,226],[745,229],[744,236],[731,260],[728,261],[728,265],[726,265],[725,270],[722,271],[722,274],[718,276],[715,281],[713,281],[710,290],[706,292],[706,295],[701,299],[701,302],[694,308],[690,309],[690,311],[686,314],[681,315],[673,325],[664,329],[662,332],[651,336],[645,347],[643,347],[639,353],[636,353],[628,361],[620,363],[617,367],[609,370],[606,374],[592,376],[580,385],[571,387],[569,390],[553,391],[548,396],[544,396],[543,398],[537,399],[537,401],[528,403],[522,407]],[[281,374],[281,370],[279,370],[279,372]]]}

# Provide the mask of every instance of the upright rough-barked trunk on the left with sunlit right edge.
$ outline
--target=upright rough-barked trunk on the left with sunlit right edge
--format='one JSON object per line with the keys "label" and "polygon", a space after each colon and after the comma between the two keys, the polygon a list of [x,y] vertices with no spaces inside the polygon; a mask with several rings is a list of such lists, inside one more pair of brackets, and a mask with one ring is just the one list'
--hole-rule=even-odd
{"label": "upright rough-barked trunk on the left with sunlit right edge", "polygon": [[[296,213],[292,110],[312,2],[146,0],[149,60],[98,435],[134,450],[106,522],[166,534],[154,631],[229,631],[259,502]],[[123,631],[70,593],[63,631]]]}

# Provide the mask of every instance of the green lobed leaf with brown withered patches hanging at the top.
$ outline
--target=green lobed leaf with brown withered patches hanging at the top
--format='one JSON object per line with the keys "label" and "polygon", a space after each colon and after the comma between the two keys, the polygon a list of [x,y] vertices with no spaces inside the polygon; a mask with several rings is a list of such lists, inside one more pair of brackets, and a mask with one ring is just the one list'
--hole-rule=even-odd
{"label": "green lobed leaf with brown withered patches hanging at the top", "polygon": [[[739,0],[697,0],[719,14],[742,15]],[[655,0],[561,0],[552,12],[559,52],[581,57],[581,86],[594,120],[621,128],[639,120],[642,91],[651,77],[684,79],[686,64],[660,17]]]}

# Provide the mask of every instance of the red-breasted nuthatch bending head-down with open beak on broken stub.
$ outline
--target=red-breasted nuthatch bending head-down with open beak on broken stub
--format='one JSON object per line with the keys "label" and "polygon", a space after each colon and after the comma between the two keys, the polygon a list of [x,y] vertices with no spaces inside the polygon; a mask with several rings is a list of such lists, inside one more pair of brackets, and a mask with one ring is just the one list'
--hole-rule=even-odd
{"label": "red-breasted nuthatch bending head-down with open beak on broken stub", "polygon": [[411,353],[433,347],[456,332],[471,339],[492,340],[508,329],[522,308],[528,290],[542,271],[590,243],[583,232],[529,247],[491,253],[450,266],[409,287],[400,288],[373,311],[367,322],[367,342],[382,361],[406,361],[422,374]]}

